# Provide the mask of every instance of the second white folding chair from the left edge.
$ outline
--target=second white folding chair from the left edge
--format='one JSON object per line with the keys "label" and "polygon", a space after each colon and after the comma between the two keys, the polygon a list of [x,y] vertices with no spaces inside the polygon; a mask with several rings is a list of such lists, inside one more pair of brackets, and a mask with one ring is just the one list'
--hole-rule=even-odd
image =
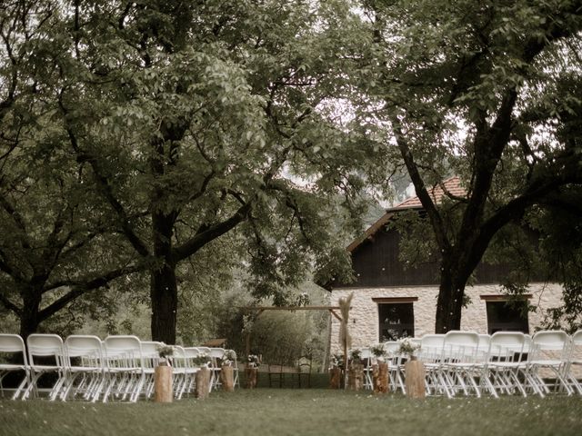
{"label": "second white folding chair from the left edge", "polygon": [[[28,364],[30,367],[30,383],[22,395],[26,400],[30,395],[38,396],[41,391],[48,393],[48,399],[54,401],[65,383],[65,349],[63,340],[56,334],[33,333],[26,338]],[[56,377],[50,388],[39,388],[38,381],[42,376],[48,379]]]}

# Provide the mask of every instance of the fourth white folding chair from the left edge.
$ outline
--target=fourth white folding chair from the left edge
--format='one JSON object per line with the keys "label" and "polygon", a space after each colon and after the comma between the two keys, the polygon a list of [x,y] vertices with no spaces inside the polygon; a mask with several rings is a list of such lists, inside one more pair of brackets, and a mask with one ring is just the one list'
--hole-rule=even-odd
{"label": "fourth white folding chair from the left edge", "polygon": [[135,402],[146,382],[142,344],[136,336],[107,336],[104,343],[106,387],[103,402],[109,398]]}

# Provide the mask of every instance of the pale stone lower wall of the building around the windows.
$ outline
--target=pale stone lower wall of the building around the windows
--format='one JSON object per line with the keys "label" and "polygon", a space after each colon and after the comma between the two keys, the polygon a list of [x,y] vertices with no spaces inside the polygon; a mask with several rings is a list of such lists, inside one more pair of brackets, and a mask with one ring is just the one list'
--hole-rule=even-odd
{"label": "pale stone lower wall of the building around the windows", "polygon": [[[413,286],[408,288],[348,288],[331,292],[331,305],[338,305],[339,299],[354,292],[352,308],[349,313],[349,332],[353,347],[366,347],[378,342],[378,311],[373,298],[417,297],[414,302],[415,336],[435,332],[437,312],[437,286]],[[461,315],[461,329],[487,333],[486,302],[481,295],[503,295],[498,284],[467,286],[465,290],[471,299]],[[528,314],[529,332],[534,332],[542,322],[544,312],[560,305],[562,288],[555,283],[532,283],[527,291],[532,294],[529,302],[537,306],[537,312]],[[339,322],[332,317],[331,352],[340,352],[338,344]]]}

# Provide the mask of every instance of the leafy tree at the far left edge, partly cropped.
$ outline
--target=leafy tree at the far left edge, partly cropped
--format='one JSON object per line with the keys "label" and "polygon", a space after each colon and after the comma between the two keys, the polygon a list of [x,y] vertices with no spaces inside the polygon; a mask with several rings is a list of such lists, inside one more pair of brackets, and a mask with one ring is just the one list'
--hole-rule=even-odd
{"label": "leafy tree at the far left edge, partly cropped", "polygon": [[44,67],[35,54],[54,11],[37,1],[0,8],[0,302],[24,337],[76,298],[139,270],[64,150],[57,106],[36,80]]}

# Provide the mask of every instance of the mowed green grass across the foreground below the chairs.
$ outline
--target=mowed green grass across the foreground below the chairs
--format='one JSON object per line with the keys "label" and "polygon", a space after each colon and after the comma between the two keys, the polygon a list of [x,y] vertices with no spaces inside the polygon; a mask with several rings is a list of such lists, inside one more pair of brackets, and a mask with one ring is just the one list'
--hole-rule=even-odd
{"label": "mowed green grass across the foreground below the chairs", "polygon": [[1,435],[576,435],[582,398],[428,398],[326,389],[213,392],[204,401],[0,400]]}

